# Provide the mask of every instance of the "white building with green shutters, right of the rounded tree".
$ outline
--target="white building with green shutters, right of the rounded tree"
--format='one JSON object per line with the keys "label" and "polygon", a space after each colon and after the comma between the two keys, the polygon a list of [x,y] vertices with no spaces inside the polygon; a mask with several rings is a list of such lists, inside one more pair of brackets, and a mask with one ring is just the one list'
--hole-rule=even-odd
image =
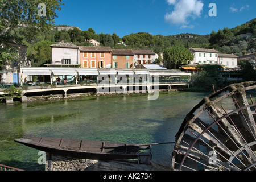
{"label": "white building with green shutters, right of the rounded tree", "polygon": [[188,64],[218,64],[218,51],[215,49],[190,48],[194,60]]}

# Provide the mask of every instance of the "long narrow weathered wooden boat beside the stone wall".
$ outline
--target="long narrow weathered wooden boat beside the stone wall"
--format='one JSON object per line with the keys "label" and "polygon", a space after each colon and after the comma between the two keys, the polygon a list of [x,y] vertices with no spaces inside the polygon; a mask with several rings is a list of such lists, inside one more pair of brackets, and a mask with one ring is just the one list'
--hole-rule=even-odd
{"label": "long narrow weathered wooden boat beside the stone wall", "polygon": [[[150,144],[125,144],[81,139],[27,137],[14,140],[49,154],[70,156],[78,159],[124,160],[148,157]],[[142,152],[141,150],[147,150]]]}

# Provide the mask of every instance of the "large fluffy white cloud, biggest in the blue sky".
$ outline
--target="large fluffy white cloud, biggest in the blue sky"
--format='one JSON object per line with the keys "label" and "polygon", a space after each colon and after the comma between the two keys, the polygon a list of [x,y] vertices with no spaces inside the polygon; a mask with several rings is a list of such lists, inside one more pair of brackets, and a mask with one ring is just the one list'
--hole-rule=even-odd
{"label": "large fluffy white cloud, biggest in the blue sky", "polygon": [[164,18],[170,24],[181,24],[181,28],[188,28],[188,18],[198,18],[203,11],[204,4],[200,0],[167,0],[174,5],[174,11],[167,13]]}

